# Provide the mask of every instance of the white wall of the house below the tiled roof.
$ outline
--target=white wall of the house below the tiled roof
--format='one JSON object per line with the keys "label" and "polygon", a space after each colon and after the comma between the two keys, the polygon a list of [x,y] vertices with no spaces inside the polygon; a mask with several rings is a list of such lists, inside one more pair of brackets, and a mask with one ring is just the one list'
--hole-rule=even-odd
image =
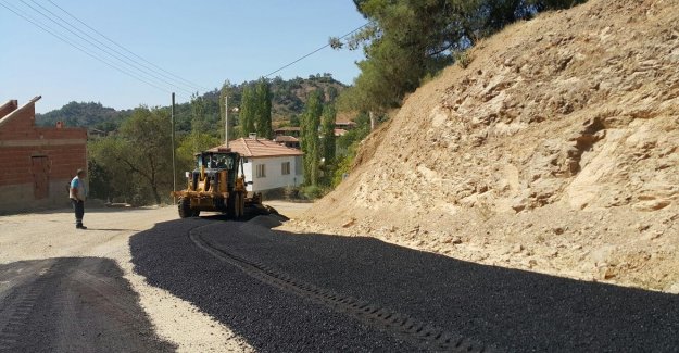
{"label": "white wall of the house below the tiled roof", "polygon": [[[288,175],[282,174],[282,163],[286,162],[290,163],[290,174]],[[260,164],[264,165],[265,177],[256,176],[256,168]],[[300,186],[304,181],[302,174],[304,168],[301,164],[302,157],[296,157],[294,155],[248,157],[248,162],[243,163],[246,181],[253,181],[252,185],[248,185],[248,191],[264,191]]]}

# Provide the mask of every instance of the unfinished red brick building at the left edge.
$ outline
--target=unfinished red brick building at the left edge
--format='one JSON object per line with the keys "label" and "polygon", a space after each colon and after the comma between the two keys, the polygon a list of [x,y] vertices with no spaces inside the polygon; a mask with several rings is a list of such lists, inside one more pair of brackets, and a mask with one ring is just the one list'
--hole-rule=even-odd
{"label": "unfinished red brick building at the left edge", "polygon": [[37,127],[39,99],[0,105],[0,214],[67,206],[66,186],[87,165],[87,129]]}

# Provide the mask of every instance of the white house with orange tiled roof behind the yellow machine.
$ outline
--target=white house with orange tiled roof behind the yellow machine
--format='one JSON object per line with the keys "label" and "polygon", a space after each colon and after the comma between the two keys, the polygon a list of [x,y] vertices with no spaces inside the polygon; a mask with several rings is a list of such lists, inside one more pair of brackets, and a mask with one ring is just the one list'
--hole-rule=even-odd
{"label": "white house with orange tiled roof behind the yellow machine", "polygon": [[246,181],[252,181],[252,185],[248,185],[248,191],[269,193],[286,187],[297,187],[304,181],[304,153],[298,149],[254,136],[232,140],[229,148],[244,159]]}

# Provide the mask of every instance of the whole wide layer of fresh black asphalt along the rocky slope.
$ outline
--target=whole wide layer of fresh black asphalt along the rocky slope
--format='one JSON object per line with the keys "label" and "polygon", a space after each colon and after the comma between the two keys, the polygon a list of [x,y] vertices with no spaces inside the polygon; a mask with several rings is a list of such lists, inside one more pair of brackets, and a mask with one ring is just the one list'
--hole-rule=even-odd
{"label": "whole wide layer of fresh black asphalt along the rocky slope", "polygon": [[338,297],[495,351],[679,352],[678,295],[478,265],[372,238],[272,231],[274,223],[159,224],[130,239],[135,270],[262,352],[436,349],[329,299]]}

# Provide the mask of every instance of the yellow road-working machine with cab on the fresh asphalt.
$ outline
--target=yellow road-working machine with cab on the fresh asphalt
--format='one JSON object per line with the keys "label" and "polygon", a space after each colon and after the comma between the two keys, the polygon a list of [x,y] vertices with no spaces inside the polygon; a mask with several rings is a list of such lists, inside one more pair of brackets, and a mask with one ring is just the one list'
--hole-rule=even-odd
{"label": "yellow road-working machine with cab on the fresh asphalt", "polygon": [[197,217],[201,211],[215,211],[229,218],[240,218],[247,204],[261,205],[259,193],[248,197],[242,171],[240,154],[230,149],[196,154],[196,168],[186,173],[186,190],[172,193],[178,200],[179,217]]}

